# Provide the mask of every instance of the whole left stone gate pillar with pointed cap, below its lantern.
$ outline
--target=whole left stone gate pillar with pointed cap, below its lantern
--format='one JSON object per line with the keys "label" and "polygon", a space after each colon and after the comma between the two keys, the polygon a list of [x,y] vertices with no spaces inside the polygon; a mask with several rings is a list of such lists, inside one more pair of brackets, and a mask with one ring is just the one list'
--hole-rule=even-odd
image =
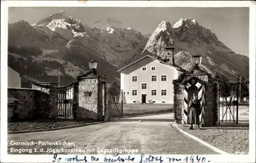
{"label": "whole left stone gate pillar with pointed cap, below its lantern", "polygon": [[104,120],[105,88],[96,70],[78,76],[76,119]]}

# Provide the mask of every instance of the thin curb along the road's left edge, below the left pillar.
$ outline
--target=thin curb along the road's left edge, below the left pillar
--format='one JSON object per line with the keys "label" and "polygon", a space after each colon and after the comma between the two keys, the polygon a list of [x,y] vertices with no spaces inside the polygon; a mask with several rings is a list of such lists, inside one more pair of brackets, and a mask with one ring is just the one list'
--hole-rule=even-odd
{"label": "thin curb along the road's left edge, below the left pillar", "polygon": [[42,132],[42,131],[53,131],[53,130],[59,130],[59,129],[68,129],[68,128],[75,128],[75,127],[89,126],[89,125],[94,125],[94,124],[99,124],[99,123],[103,123],[103,122],[92,122],[92,123],[86,123],[86,124],[77,124],[77,125],[63,126],[63,127],[57,127],[57,128],[48,128],[48,129],[23,130],[23,131],[8,131],[8,134],[14,134],[14,133],[28,133],[28,132]]}

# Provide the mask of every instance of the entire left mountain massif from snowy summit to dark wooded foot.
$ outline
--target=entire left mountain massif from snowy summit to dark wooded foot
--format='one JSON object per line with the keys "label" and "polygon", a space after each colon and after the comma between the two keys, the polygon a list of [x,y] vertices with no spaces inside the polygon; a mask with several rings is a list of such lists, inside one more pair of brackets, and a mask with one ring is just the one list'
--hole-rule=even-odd
{"label": "entire left mountain massif from snowy summit to dark wooded foot", "polygon": [[[18,59],[13,59],[10,62],[13,65],[18,62],[17,60],[23,62],[20,59],[24,57],[21,54],[23,52],[20,52],[22,51],[20,47],[22,49],[35,47],[40,48],[42,52],[40,56],[34,57],[44,56],[52,60],[67,61],[71,64],[83,66],[84,71],[88,70],[88,61],[95,59],[99,62],[98,70],[101,74],[105,74],[109,80],[118,80],[120,75],[116,71],[140,57],[148,40],[148,34],[144,35],[129,27],[117,28],[110,25],[113,22],[117,23],[116,21],[113,19],[108,21],[109,23],[101,28],[91,28],[79,19],[66,15],[64,11],[59,11],[40,19],[33,25],[24,20],[9,24],[8,46],[11,50],[10,53],[19,55]],[[25,56],[25,58],[28,59],[29,56]],[[52,60],[49,60],[49,62],[52,62]],[[29,61],[33,62],[32,59],[29,59]],[[24,65],[23,63],[20,64]],[[54,70],[47,71],[55,72]],[[72,74],[82,73],[81,70],[73,71],[76,72]],[[23,73],[25,72],[21,74]],[[72,74],[66,72],[62,74],[72,76]],[[32,78],[33,75],[31,75]],[[51,73],[47,75],[51,75]],[[52,76],[54,75],[56,74],[52,73]],[[27,74],[27,76],[30,75]]]}

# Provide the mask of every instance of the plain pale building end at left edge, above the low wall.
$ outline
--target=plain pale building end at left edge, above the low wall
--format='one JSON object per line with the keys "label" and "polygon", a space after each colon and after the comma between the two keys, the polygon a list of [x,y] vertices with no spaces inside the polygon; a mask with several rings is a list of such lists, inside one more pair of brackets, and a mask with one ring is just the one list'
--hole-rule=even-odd
{"label": "plain pale building end at left edge, above the low wall", "polygon": [[8,88],[21,88],[22,78],[19,73],[8,66]]}

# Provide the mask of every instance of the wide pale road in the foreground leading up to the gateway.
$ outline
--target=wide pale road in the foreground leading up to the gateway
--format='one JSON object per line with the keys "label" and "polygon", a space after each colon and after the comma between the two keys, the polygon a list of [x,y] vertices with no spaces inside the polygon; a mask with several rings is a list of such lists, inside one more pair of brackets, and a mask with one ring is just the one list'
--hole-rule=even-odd
{"label": "wide pale road in the foreground leading up to the gateway", "polygon": [[[137,154],[217,154],[193,139],[185,137],[183,134],[172,128],[170,123],[171,122],[148,121],[106,122],[96,125],[55,131],[8,134],[8,153],[10,152],[10,149],[14,147],[16,149],[36,148],[38,150],[41,148],[44,148],[44,150],[47,150],[47,148],[86,150],[86,152],[82,153],[71,153],[67,151],[58,152],[59,154],[90,154],[87,149],[92,148],[95,148],[96,150],[91,154],[103,154],[102,152],[97,152],[97,148],[138,149]],[[11,141],[66,141],[75,143],[75,146],[11,146]],[[29,152],[23,152],[22,154],[28,153]],[[33,150],[31,154],[52,154],[52,152],[35,153]],[[127,153],[123,152],[123,154]]]}

